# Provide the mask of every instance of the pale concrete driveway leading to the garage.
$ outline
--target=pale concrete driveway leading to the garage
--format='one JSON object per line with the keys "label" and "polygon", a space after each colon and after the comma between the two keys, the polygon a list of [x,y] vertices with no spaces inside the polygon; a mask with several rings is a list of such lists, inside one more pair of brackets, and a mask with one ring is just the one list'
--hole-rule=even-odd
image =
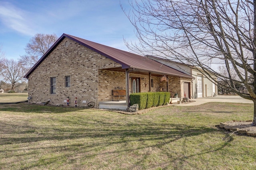
{"label": "pale concrete driveway leading to the garage", "polygon": [[240,96],[216,96],[190,99],[195,102],[188,102],[186,104],[172,104],[174,106],[197,106],[207,102],[230,102],[230,103],[253,103],[252,100],[244,99]]}

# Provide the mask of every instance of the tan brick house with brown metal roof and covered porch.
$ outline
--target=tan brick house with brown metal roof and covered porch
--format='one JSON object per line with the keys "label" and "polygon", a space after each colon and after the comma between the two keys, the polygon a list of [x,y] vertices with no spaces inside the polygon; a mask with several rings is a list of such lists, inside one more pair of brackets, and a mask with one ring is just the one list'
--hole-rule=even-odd
{"label": "tan brick house with brown metal roof and covered porch", "polygon": [[[31,103],[50,101],[52,105],[66,105],[69,97],[73,105],[88,102],[112,101],[112,90],[134,92],[182,92],[182,83],[192,76],[144,56],[118,50],[68,34],[53,44],[24,76],[28,79]],[[162,81],[161,81],[162,79]]]}

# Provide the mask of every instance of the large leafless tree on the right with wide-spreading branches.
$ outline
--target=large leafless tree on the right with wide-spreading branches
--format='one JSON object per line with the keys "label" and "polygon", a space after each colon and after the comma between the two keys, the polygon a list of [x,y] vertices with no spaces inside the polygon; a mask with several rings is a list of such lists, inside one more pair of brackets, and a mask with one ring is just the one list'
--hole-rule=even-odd
{"label": "large leafless tree on the right with wide-spreading branches", "polygon": [[[138,38],[136,44],[126,42],[130,50],[201,68],[218,86],[254,102],[256,126],[256,0],[130,0],[130,5],[129,11],[122,7]],[[227,74],[211,68],[213,63]]]}

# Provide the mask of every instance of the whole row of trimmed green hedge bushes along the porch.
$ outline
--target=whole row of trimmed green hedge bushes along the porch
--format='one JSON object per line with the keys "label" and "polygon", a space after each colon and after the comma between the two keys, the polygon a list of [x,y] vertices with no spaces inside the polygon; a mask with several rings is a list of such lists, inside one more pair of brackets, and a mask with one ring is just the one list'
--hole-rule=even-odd
{"label": "whole row of trimmed green hedge bushes along the porch", "polygon": [[166,105],[169,101],[169,92],[143,92],[130,94],[130,105],[139,104],[139,110]]}

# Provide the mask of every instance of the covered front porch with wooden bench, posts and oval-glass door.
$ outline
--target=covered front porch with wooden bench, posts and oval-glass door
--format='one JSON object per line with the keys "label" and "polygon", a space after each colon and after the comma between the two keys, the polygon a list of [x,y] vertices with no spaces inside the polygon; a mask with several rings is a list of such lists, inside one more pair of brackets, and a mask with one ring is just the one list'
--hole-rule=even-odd
{"label": "covered front porch with wooden bench, posts and oval-glass door", "polygon": [[[171,78],[170,81],[173,80],[172,76],[161,72],[121,67],[101,69],[99,70],[99,108],[126,110],[130,106],[131,93],[170,92],[172,89],[169,89],[168,77]],[[180,84],[179,79],[180,77],[177,79],[177,84]],[[176,88],[177,92],[181,90],[180,86]],[[122,90],[120,96],[114,93],[117,90]]]}

